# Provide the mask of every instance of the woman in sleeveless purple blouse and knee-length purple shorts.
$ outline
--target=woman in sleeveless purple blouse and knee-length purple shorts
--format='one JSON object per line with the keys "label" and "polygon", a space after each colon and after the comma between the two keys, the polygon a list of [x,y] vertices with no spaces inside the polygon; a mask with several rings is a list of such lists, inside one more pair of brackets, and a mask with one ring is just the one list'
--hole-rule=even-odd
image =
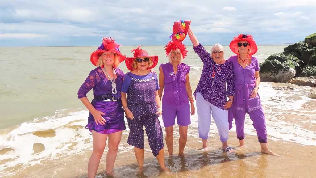
{"label": "woman in sleeveless purple blouse and knee-length purple shorts", "polygon": [[159,67],[159,98],[165,86],[162,98],[162,120],[166,130],[166,143],[169,155],[173,154],[173,125],[177,118],[179,125],[179,155],[183,155],[185,148],[188,125],[191,124],[191,114],[195,113],[192,90],[189,80],[190,66],[182,63],[186,56],[186,47],[182,42],[169,41],[166,54],[169,62]]}

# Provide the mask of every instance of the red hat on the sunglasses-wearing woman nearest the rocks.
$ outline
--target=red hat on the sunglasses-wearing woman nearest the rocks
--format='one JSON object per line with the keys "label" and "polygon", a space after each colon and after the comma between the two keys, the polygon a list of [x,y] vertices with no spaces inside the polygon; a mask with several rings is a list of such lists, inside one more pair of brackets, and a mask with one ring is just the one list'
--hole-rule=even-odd
{"label": "red hat on the sunglasses-wearing woman nearest the rocks", "polygon": [[250,44],[250,53],[249,53],[250,56],[252,56],[258,51],[258,47],[256,45],[256,42],[253,40],[252,35],[239,34],[238,36],[234,37],[234,39],[229,43],[229,48],[235,54],[237,55],[239,54],[238,46],[237,46],[237,43],[239,43],[239,41],[248,41],[248,43]]}

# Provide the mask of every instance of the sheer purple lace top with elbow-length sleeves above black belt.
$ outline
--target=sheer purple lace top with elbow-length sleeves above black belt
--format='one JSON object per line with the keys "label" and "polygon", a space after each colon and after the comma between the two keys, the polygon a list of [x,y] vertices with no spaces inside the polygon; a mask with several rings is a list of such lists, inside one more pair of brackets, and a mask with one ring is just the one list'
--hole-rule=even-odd
{"label": "sheer purple lace top with elbow-length sleeves above black belt", "polygon": [[87,97],[87,93],[93,89],[93,95],[111,94],[115,98],[121,98],[121,87],[124,73],[118,67],[115,68],[117,79],[115,79],[117,93],[112,94],[112,82],[106,78],[106,74],[101,67],[93,69],[86,81],[82,84],[78,91],[78,98]]}

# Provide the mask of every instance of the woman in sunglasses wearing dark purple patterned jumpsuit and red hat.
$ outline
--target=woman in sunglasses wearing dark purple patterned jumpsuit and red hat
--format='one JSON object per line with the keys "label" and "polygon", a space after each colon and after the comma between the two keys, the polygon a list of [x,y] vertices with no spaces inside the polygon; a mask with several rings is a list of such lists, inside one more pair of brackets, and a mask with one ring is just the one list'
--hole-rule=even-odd
{"label": "woman in sunglasses wearing dark purple patterned jumpsuit and red hat", "polygon": [[122,85],[122,105],[130,129],[127,143],[134,146],[139,171],[142,172],[145,126],[150,149],[157,158],[161,170],[166,170],[163,133],[158,120],[162,112],[157,92],[158,79],[156,73],[148,70],[157,65],[158,56],[149,56],[145,50],[140,49],[140,46],[133,51],[134,57],[125,60],[126,67],[131,72],[125,74]]}

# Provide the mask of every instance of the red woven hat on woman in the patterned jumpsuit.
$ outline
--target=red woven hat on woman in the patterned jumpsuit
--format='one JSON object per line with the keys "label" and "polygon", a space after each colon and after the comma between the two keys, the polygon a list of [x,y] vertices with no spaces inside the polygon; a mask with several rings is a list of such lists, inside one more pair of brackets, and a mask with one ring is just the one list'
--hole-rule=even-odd
{"label": "red woven hat on woman in the patterned jumpsuit", "polygon": [[156,65],[158,64],[158,56],[149,56],[147,51],[143,50],[143,49],[140,49],[142,45],[138,46],[137,49],[133,49],[131,51],[134,52],[134,57],[130,58],[130,57],[127,57],[125,59],[125,64],[126,64],[126,67],[128,68],[128,70],[132,71],[132,70],[135,70],[133,67],[132,67],[132,64],[134,62],[134,60],[138,57],[150,57],[151,58],[151,61],[153,63],[153,65],[151,67],[147,67],[147,69],[152,69],[154,67],[156,67]]}

